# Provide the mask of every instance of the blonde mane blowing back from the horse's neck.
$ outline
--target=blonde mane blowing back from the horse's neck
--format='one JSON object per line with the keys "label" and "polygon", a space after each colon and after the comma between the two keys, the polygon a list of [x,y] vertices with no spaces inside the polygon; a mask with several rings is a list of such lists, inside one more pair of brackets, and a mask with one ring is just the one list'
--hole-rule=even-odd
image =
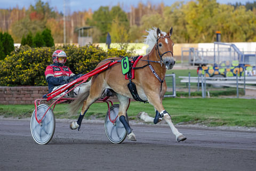
{"label": "blonde mane blowing back from the horse's neck", "polygon": [[[146,54],[148,54],[156,44],[156,40],[157,40],[157,37],[158,37],[157,34],[156,34],[156,30],[157,30],[156,27],[153,27],[152,29],[146,30],[148,32],[148,35],[143,36],[143,37],[145,37],[145,40],[143,41],[143,43],[145,43],[149,46],[146,50]],[[161,30],[161,33],[164,36],[166,36],[166,32],[164,32],[164,31],[162,32],[162,30]]]}

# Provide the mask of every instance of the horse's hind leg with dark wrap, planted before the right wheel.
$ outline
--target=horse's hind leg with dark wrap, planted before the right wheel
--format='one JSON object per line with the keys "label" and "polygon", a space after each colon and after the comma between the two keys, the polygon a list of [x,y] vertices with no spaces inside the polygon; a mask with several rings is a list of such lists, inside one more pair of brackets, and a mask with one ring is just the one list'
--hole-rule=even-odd
{"label": "horse's hind leg with dark wrap, planted before the right wheel", "polygon": [[132,132],[132,128],[130,127],[129,123],[125,119],[126,110],[129,105],[129,98],[120,94],[117,94],[117,98],[120,102],[118,116],[119,116],[119,120],[124,125],[125,131],[127,133],[127,139],[131,141],[137,141],[135,134]]}

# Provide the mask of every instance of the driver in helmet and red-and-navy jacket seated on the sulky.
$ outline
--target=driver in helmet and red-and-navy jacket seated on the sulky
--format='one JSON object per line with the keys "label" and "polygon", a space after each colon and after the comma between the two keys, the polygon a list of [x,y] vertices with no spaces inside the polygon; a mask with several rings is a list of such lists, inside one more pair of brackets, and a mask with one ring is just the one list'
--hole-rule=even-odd
{"label": "driver in helmet and red-and-navy jacket seated on the sulky", "polygon": [[[49,93],[59,88],[62,85],[65,85],[71,82],[74,79],[77,79],[82,74],[75,76],[75,74],[69,69],[69,67],[64,64],[67,61],[67,55],[62,50],[56,50],[52,54],[53,64],[47,66],[44,72],[46,82],[48,83]],[[75,76],[74,78],[72,76]],[[75,95],[78,94],[79,89],[74,89]]]}

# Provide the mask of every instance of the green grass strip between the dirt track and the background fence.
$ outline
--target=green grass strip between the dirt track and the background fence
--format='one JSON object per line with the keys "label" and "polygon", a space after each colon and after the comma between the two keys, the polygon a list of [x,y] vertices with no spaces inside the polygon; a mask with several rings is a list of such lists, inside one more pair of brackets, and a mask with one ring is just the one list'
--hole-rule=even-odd
{"label": "green grass strip between the dirt track and the background fence", "polygon": [[[54,109],[56,118],[77,119],[68,114],[69,104],[57,104]],[[256,127],[255,99],[184,99],[165,98],[165,109],[172,116],[174,124],[204,124],[207,126],[247,126]],[[31,117],[34,105],[0,105],[0,115],[4,117]],[[86,118],[94,115],[103,118],[106,115],[106,103],[94,103],[86,113]],[[155,112],[149,103],[131,102],[127,111],[130,119],[136,119],[139,112],[145,111],[154,117]]]}

